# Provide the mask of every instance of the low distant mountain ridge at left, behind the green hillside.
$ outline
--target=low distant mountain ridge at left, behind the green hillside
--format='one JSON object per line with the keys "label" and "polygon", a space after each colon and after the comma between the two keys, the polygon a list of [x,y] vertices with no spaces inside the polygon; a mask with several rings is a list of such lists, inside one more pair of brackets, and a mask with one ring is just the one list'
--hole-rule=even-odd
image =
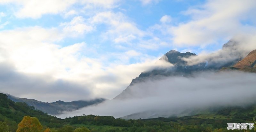
{"label": "low distant mountain ridge at left, behind the green hillside", "polygon": [[78,101],[72,101],[72,102],[64,102],[59,100],[52,103],[45,103],[35,99],[19,98],[19,97],[12,96],[10,94],[6,94],[6,95],[8,96],[9,99],[11,99],[14,102],[24,102],[29,106],[35,107],[35,109],[41,110],[44,113],[48,113],[51,115],[61,114],[62,112],[65,112],[65,111],[74,111],[85,106],[99,104],[106,100],[104,98],[97,98],[89,101],[78,100]]}

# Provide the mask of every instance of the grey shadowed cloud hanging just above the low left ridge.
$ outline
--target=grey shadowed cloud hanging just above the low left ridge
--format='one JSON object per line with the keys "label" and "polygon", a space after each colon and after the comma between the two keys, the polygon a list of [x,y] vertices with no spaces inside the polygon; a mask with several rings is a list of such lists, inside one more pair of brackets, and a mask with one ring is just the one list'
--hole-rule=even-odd
{"label": "grey shadowed cloud hanging just above the low left ridge", "polygon": [[44,102],[93,98],[90,90],[76,82],[56,79],[48,74],[17,72],[13,64],[0,63],[1,92]]}

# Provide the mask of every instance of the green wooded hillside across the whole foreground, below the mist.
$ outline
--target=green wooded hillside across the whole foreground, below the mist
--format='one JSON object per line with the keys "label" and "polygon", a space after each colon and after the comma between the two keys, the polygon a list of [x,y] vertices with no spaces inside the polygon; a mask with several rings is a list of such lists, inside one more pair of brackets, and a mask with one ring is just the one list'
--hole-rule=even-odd
{"label": "green wooded hillside across the whole foreground, below the mist", "polygon": [[172,118],[124,120],[113,116],[82,115],[59,119],[25,103],[15,103],[5,94],[0,94],[0,130],[1,124],[7,124],[11,132],[15,132],[17,124],[27,115],[38,118],[44,129],[50,128],[51,132],[74,132],[80,127],[86,127],[91,132],[221,132],[230,131],[227,130],[229,122],[253,122],[255,113],[256,105],[252,105],[244,108],[226,107],[207,114]]}

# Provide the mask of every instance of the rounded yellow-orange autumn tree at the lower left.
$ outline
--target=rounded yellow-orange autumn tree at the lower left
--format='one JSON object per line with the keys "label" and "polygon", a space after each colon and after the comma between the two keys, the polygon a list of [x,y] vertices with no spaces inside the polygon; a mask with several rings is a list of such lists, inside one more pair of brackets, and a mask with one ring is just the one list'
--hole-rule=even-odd
{"label": "rounded yellow-orange autumn tree at the lower left", "polygon": [[43,126],[36,117],[24,116],[16,132],[41,132]]}

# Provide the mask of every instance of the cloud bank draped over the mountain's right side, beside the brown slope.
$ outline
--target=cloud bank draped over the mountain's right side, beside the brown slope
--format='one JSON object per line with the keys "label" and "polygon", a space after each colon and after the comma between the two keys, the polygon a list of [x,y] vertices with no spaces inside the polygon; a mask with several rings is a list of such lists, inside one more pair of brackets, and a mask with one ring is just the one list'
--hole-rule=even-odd
{"label": "cloud bank draped over the mountain's right side, beside the brown slope", "polygon": [[256,39],[252,35],[241,35],[231,39],[221,50],[213,53],[201,53],[197,56],[182,59],[187,61],[188,65],[206,62],[208,67],[221,67],[225,66],[225,64],[232,66],[246,57],[249,52],[256,49],[255,41]]}

